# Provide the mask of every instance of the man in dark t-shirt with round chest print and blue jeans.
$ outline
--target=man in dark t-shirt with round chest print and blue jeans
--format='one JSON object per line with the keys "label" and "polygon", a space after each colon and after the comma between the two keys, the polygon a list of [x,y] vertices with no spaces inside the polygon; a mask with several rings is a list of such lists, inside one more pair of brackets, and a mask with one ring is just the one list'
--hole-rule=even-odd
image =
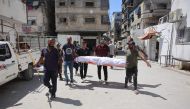
{"label": "man in dark t-shirt with round chest print and blue jeans", "polygon": [[[71,42],[72,42],[72,37],[68,37],[67,44],[63,46],[64,75],[66,79],[66,85],[68,85],[68,82],[70,82],[71,84],[74,82],[73,63],[76,53],[75,53],[75,46]],[[69,67],[70,70],[70,79],[67,74],[67,67]]]}

